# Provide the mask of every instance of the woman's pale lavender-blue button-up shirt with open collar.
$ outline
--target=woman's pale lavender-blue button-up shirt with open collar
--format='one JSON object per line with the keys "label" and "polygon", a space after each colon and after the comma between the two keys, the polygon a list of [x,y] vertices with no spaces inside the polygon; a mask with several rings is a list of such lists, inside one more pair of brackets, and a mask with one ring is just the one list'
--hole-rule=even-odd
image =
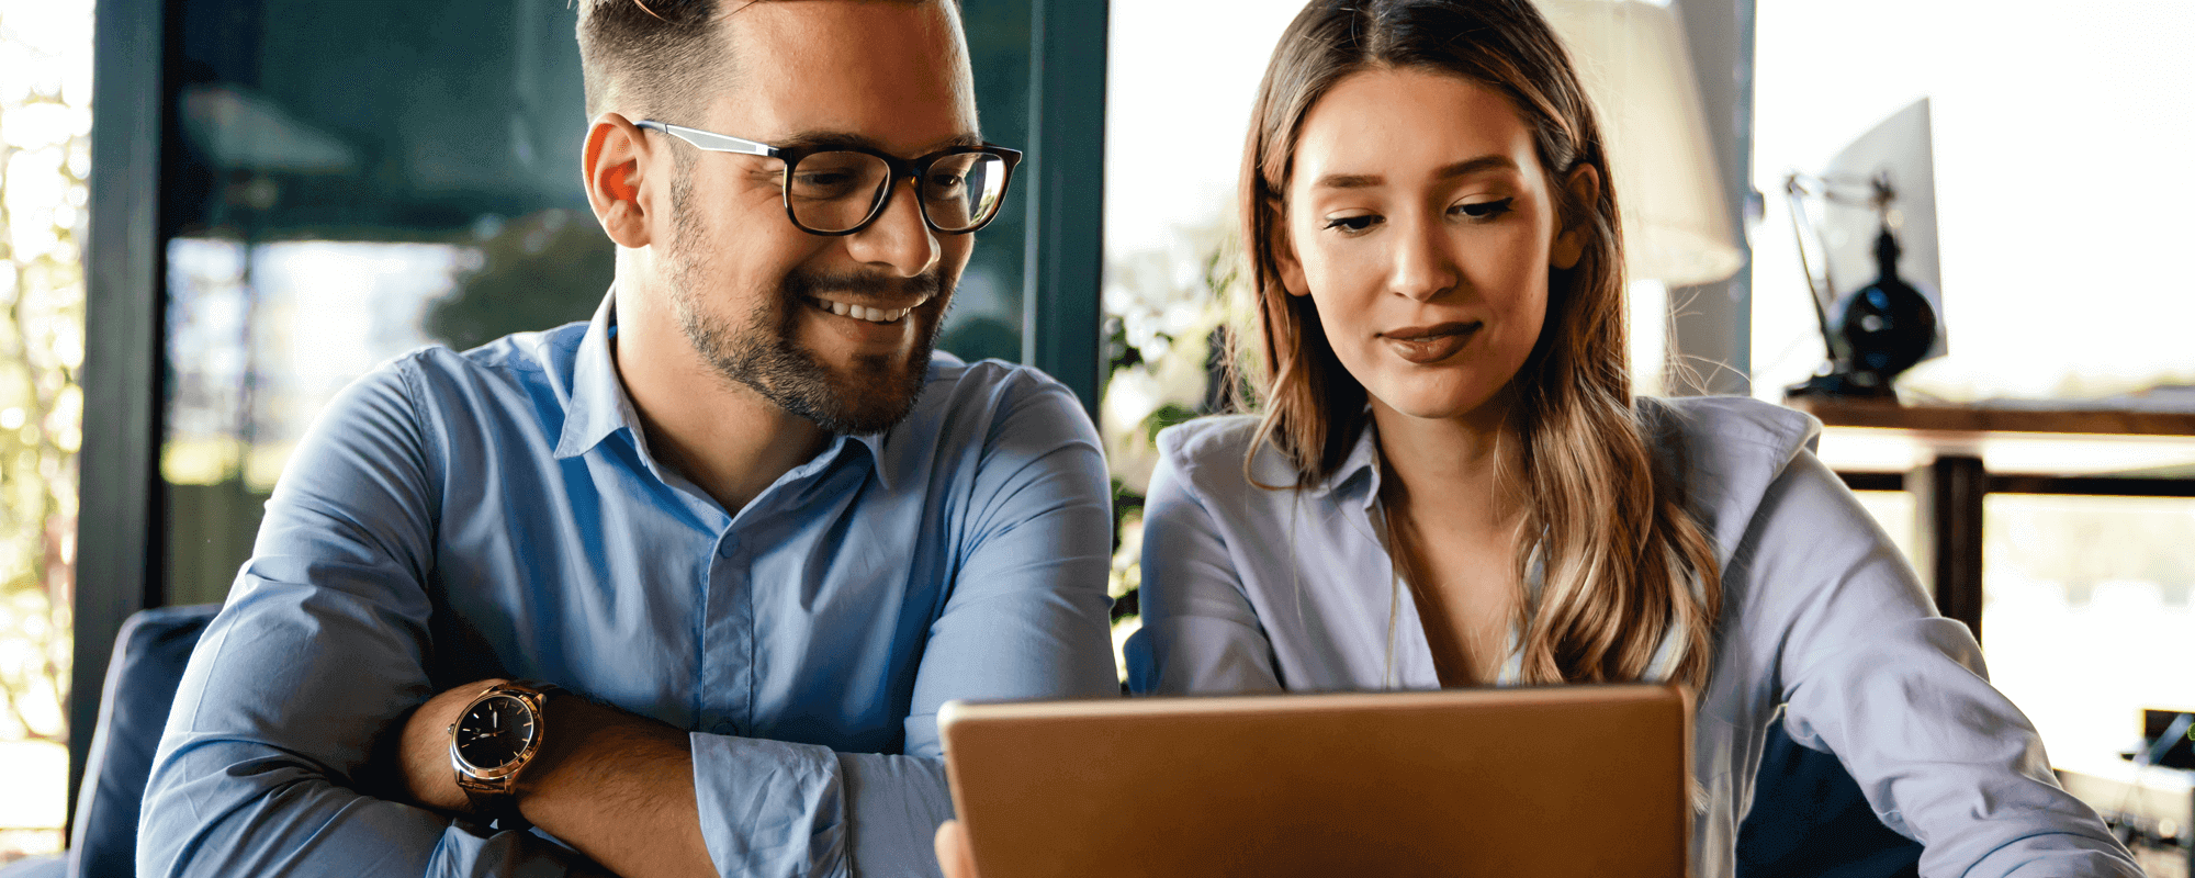
{"label": "woman's pale lavender-blue button-up shirt with open collar", "polygon": [[[1692,871],[1734,869],[1769,722],[1835,753],[1877,817],[1925,845],[1923,876],[2140,876],[2059,790],[2035,727],[1995,687],[1967,626],[1936,615],[1896,547],[1813,457],[1813,417],[1754,399],[1644,399],[1648,443],[1723,564],[1714,665],[1699,694]],[[1130,687],[1436,689],[1416,601],[1396,595],[1372,428],[1332,479],[1245,479],[1256,419],[1159,435],[1144,507],[1144,628]],[[1271,448],[1256,481],[1293,485]],[[1515,669],[1515,656],[1510,656]],[[1515,674],[1506,674],[1515,676]]]}

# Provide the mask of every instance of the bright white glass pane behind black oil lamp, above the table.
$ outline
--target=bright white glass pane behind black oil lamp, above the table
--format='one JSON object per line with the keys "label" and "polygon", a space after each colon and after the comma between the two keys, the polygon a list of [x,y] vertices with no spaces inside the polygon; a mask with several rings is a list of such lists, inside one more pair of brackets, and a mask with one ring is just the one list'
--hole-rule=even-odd
{"label": "bright white glass pane behind black oil lamp, above the table", "polygon": [[1822,362],[1785,173],[1824,171],[1846,143],[1923,97],[1949,353],[1901,386],[1971,402],[2195,382],[2186,356],[2195,296],[2180,272],[2155,259],[2094,257],[2177,252],[2195,237],[2195,215],[2180,209],[2195,200],[2195,178],[2140,160],[2044,171],[2096,154],[2103,138],[2195,140],[2195,92],[2184,86],[2191,31],[2186,2],[2098,0],[2079,15],[1962,0],[1760,2],[1754,187],[1767,200],[1752,235],[1756,393],[1780,397]]}

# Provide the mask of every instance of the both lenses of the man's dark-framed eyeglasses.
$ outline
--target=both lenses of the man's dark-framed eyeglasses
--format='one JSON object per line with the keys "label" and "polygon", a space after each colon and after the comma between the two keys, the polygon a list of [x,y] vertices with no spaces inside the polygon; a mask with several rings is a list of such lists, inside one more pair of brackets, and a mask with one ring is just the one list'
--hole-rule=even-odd
{"label": "both lenses of the man's dark-framed eyeglasses", "polygon": [[[876,213],[891,187],[891,167],[860,151],[819,151],[792,167],[792,219],[819,233],[843,233]],[[1005,160],[983,151],[946,154],[920,182],[922,213],[944,233],[981,226],[999,213]]]}

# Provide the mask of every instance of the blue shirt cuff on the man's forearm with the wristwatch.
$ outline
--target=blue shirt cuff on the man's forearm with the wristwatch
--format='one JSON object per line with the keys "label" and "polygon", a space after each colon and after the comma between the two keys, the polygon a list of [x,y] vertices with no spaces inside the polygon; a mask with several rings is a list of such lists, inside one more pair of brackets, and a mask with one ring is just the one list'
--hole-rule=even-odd
{"label": "blue shirt cuff on the man's forearm with the wristwatch", "polygon": [[694,801],[722,876],[843,878],[845,795],[828,746],[689,733]]}

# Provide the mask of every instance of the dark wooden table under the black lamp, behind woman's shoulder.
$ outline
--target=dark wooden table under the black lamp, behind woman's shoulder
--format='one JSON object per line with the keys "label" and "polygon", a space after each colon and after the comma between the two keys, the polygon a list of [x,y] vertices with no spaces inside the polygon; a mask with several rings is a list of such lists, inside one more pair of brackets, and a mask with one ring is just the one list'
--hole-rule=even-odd
{"label": "dark wooden table under the black lamp, behind woman's shoulder", "polygon": [[1914,494],[1914,569],[1936,610],[1982,639],[1989,494],[2191,496],[2195,413],[1901,406],[1793,397],[1822,419],[1820,457],[1861,492]]}

